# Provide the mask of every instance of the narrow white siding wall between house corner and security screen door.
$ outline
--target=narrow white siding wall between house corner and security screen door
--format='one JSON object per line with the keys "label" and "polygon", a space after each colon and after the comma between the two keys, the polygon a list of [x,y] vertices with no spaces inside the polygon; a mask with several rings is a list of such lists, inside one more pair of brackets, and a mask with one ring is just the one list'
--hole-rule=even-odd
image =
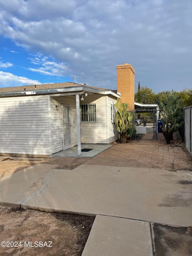
{"label": "narrow white siding wall between house corner and security screen door", "polygon": [[[56,109],[56,105],[59,109]],[[62,136],[62,111],[61,104],[50,98],[51,107],[51,139],[52,139],[52,154],[63,150],[63,136]]]}

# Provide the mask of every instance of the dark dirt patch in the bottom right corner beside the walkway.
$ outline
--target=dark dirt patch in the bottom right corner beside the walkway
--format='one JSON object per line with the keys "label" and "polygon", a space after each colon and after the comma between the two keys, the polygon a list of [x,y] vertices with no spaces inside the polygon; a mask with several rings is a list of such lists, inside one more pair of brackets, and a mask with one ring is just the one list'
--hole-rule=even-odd
{"label": "dark dirt patch in the bottom right corner beside the walkway", "polygon": [[154,256],[191,256],[192,227],[151,224]]}

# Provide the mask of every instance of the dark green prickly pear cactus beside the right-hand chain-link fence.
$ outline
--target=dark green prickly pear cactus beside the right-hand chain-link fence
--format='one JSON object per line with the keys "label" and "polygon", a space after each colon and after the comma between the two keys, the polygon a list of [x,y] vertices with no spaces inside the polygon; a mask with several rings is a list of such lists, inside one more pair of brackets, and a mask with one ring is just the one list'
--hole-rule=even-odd
{"label": "dark green prickly pear cactus beside the right-hand chain-link fence", "polygon": [[160,102],[162,108],[161,122],[163,124],[162,133],[167,144],[170,144],[173,133],[184,125],[182,121],[182,101],[174,91],[167,96],[164,102]]}

